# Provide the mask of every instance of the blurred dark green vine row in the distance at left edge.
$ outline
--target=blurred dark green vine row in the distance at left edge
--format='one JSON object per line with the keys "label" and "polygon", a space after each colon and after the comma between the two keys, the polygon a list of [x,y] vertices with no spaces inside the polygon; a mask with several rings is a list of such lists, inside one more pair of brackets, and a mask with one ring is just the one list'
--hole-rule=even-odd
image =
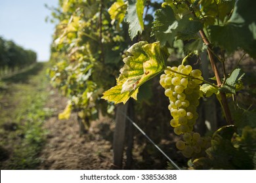
{"label": "blurred dark green vine row in the distance at left edge", "polygon": [[0,69],[24,68],[37,60],[37,54],[32,50],[26,50],[13,41],[7,41],[0,37]]}

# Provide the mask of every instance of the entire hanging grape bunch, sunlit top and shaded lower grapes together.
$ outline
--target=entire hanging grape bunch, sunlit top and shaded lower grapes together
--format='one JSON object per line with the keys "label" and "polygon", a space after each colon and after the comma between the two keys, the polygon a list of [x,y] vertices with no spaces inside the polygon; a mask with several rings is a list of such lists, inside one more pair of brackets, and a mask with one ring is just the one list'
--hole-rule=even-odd
{"label": "entire hanging grape bunch, sunlit top and shaded lower grapes together", "polygon": [[160,76],[160,84],[169,97],[168,108],[173,116],[170,124],[175,134],[183,134],[184,140],[178,141],[176,146],[183,156],[190,158],[209,147],[209,138],[202,138],[199,133],[192,132],[198,119],[196,107],[199,105],[202,73],[199,69],[193,70],[191,65],[167,67],[164,72]]}

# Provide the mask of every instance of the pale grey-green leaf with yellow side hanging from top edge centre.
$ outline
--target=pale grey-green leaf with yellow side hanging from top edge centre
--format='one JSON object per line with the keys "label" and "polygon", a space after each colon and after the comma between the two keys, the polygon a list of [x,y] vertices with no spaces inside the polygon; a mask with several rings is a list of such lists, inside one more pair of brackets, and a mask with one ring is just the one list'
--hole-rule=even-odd
{"label": "pale grey-green leaf with yellow side hanging from top edge centre", "polygon": [[144,30],[143,12],[146,0],[129,0],[126,20],[129,24],[129,35],[131,39],[137,36],[138,32]]}

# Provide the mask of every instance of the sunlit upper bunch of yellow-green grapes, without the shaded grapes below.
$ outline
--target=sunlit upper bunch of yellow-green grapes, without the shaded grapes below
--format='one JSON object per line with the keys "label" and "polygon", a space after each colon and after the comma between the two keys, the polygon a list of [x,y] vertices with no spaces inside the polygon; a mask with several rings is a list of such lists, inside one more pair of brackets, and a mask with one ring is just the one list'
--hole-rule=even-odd
{"label": "sunlit upper bunch of yellow-green grapes, without the shaded grapes below", "polygon": [[165,88],[165,95],[170,101],[168,108],[173,116],[170,124],[177,135],[192,131],[198,119],[196,107],[200,98],[199,84],[203,80],[201,75],[201,71],[192,70],[191,65],[179,65],[179,67],[167,67],[165,74],[160,76],[160,84]]}

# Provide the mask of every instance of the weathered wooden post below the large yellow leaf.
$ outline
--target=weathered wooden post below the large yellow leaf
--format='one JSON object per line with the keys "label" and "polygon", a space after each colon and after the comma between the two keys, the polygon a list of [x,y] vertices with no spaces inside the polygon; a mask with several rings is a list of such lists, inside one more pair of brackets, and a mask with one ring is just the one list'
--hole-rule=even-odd
{"label": "weathered wooden post below the large yellow leaf", "polygon": [[123,148],[125,145],[125,127],[126,127],[126,116],[129,106],[129,101],[117,106],[116,111],[116,127],[114,131],[114,167],[113,169],[122,169],[123,165]]}

